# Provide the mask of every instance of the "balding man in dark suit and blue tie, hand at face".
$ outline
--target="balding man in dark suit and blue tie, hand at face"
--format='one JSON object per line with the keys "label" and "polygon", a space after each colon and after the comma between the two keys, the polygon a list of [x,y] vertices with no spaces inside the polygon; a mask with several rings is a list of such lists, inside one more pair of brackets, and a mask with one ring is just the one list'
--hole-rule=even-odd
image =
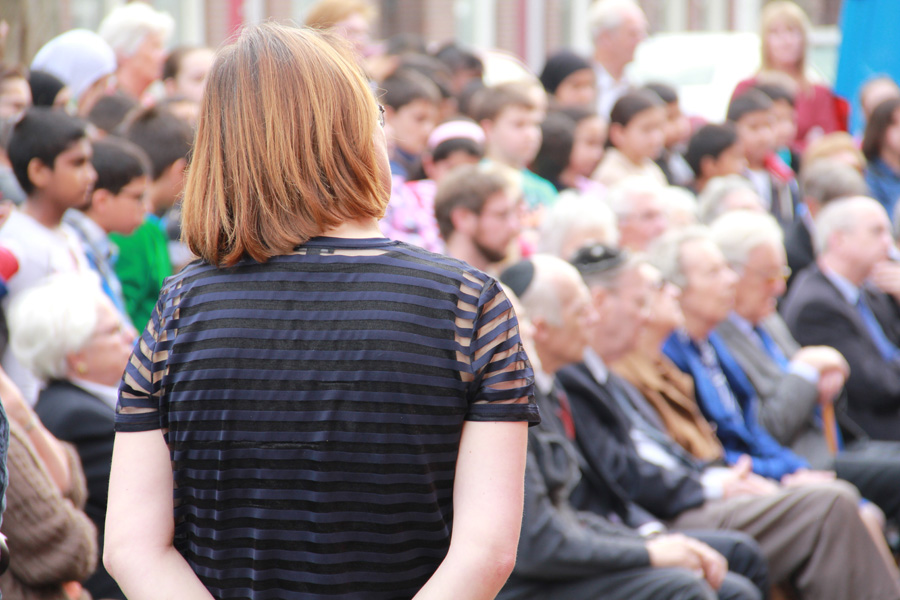
{"label": "balding man in dark suit and blue tie, hand at face", "polygon": [[887,261],[888,215],[864,196],[816,217],[817,261],[797,275],[781,306],[802,345],[837,349],[850,365],[848,412],[873,439],[900,440],[900,311],[868,279]]}

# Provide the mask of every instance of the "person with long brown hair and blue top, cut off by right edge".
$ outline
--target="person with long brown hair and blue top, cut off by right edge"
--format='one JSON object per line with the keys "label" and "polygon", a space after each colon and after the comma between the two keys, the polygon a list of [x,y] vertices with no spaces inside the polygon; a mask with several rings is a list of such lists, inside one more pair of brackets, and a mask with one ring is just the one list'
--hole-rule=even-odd
{"label": "person with long brown hair and blue top, cut off by right edge", "polygon": [[900,98],[889,98],[872,111],[862,151],[869,161],[865,172],[869,193],[893,219],[900,198]]}

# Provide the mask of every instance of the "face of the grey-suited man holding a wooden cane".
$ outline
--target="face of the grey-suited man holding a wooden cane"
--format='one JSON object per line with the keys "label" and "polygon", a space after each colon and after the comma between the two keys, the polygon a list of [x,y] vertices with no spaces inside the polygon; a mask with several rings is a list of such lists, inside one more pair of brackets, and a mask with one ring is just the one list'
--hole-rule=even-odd
{"label": "face of the grey-suited man holding a wooden cane", "polygon": [[778,298],[784,294],[789,272],[784,247],[760,244],[747,254],[747,262],[738,271],[734,309],[755,325],[775,312]]}

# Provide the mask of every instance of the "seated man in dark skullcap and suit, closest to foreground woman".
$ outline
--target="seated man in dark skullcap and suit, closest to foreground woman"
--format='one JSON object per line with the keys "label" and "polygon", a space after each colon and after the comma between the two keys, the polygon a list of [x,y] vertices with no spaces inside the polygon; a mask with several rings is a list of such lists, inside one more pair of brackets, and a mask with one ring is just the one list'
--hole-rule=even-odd
{"label": "seated man in dark skullcap and suit, closest to foreground woman", "polygon": [[[695,537],[651,537],[664,529],[661,524],[602,476],[582,477],[584,459],[572,439],[576,423],[555,381],[561,367],[580,360],[592,321],[590,297],[578,272],[560,259],[537,255],[507,269],[501,279],[521,295],[525,307],[516,312],[535,369],[541,423],[529,430],[518,559],[498,598],[761,598],[766,567],[752,539],[706,532],[701,539],[723,558]],[[526,313],[533,327],[527,326]],[[528,347],[532,330],[536,352]],[[585,489],[595,500],[593,511],[572,503],[573,492]]]}

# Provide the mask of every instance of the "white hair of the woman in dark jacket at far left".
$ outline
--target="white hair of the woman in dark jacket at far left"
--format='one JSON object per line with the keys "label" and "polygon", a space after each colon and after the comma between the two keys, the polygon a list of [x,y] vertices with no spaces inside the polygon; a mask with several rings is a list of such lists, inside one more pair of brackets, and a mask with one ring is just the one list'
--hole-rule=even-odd
{"label": "white hair of the woman in dark jacket at far left", "polygon": [[104,300],[96,279],[79,274],[53,275],[23,291],[8,313],[13,355],[38,379],[65,377],[66,357],[90,340]]}

